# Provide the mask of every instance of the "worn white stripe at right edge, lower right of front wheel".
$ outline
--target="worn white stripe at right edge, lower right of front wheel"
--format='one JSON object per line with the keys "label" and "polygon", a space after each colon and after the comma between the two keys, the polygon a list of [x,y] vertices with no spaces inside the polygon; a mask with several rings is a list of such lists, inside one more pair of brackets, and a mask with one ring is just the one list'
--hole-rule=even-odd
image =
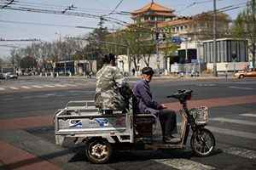
{"label": "worn white stripe at right edge, lower right of front wheel", "polygon": [[241,156],[247,159],[256,159],[256,151],[254,150],[246,150],[236,147],[224,148],[222,150],[224,151],[224,153],[230,155]]}

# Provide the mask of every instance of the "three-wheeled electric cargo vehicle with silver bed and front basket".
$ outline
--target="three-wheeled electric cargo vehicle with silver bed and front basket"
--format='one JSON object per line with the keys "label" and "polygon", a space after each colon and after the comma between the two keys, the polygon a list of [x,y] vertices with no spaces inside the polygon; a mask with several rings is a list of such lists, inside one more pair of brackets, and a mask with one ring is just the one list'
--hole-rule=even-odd
{"label": "three-wheeled electric cargo vehicle with silver bed and front basket", "polygon": [[98,111],[94,101],[70,101],[64,109],[56,111],[55,142],[63,144],[66,138],[84,142],[88,160],[105,163],[109,161],[113,150],[120,146],[129,150],[184,149],[191,129],[191,149],[197,156],[209,156],[214,149],[215,139],[205,128],[208,109],[206,106],[189,109],[187,101],[191,96],[192,90],[187,89],[167,96],[178,99],[183,106],[179,111],[182,119],[177,144],[164,143],[161,138],[154,138],[155,116],[136,113],[132,105],[128,113],[113,111],[109,114],[108,111],[107,114],[105,111]]}

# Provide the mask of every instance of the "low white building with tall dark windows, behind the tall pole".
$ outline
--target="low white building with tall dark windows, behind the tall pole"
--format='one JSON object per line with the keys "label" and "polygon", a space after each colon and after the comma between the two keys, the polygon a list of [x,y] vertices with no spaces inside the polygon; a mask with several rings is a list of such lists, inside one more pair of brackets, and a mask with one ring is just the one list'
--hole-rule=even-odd
{"label": "low white building with tall dark windows, behind the tall pole", "polygon": [[[247,41],[234,38],[220,38],[217,42],[217,71],[239,71],[248,65]],[[186,52],[187,51],[187,52]],[[187,55],[185,55],[187,53]],[[213,41],[189,41],[181,43],[176,65],[171,64],[171,72],[212,71]],[[185,66],[184,66],[185,65]],[[235,65],[235,66],[234,66]],[[172,67],[175,67],[173,69]]]}

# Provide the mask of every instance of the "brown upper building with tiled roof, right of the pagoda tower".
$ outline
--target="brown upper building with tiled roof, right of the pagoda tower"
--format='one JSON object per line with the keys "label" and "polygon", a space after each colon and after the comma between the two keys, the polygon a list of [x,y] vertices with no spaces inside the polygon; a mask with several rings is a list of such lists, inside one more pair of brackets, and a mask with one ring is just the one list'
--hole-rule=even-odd
{"label": "brown upper building with tiled roof, right of the pagoda tower", "polygon": [[[217,38],[229,37],[230,17],[224,13],[217,14]],[[212,13],[201,13],[190,17],[176,17],[160,22],[161,32],[171,31],[173,37],[187,37],[192,41],[212,39]],[[169,29],[166,29],[169,28]]]}

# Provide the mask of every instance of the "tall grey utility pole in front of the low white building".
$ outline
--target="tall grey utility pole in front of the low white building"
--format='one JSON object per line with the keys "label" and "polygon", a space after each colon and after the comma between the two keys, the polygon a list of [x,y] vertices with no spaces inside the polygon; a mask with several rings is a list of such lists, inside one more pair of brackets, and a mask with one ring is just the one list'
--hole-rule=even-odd
{"label": "tall grey utility pole in front of the low white building", "polygon": [[216,43],[216,0],[213,0],[213,77],[218,77],[217,72],[217,43]]}

